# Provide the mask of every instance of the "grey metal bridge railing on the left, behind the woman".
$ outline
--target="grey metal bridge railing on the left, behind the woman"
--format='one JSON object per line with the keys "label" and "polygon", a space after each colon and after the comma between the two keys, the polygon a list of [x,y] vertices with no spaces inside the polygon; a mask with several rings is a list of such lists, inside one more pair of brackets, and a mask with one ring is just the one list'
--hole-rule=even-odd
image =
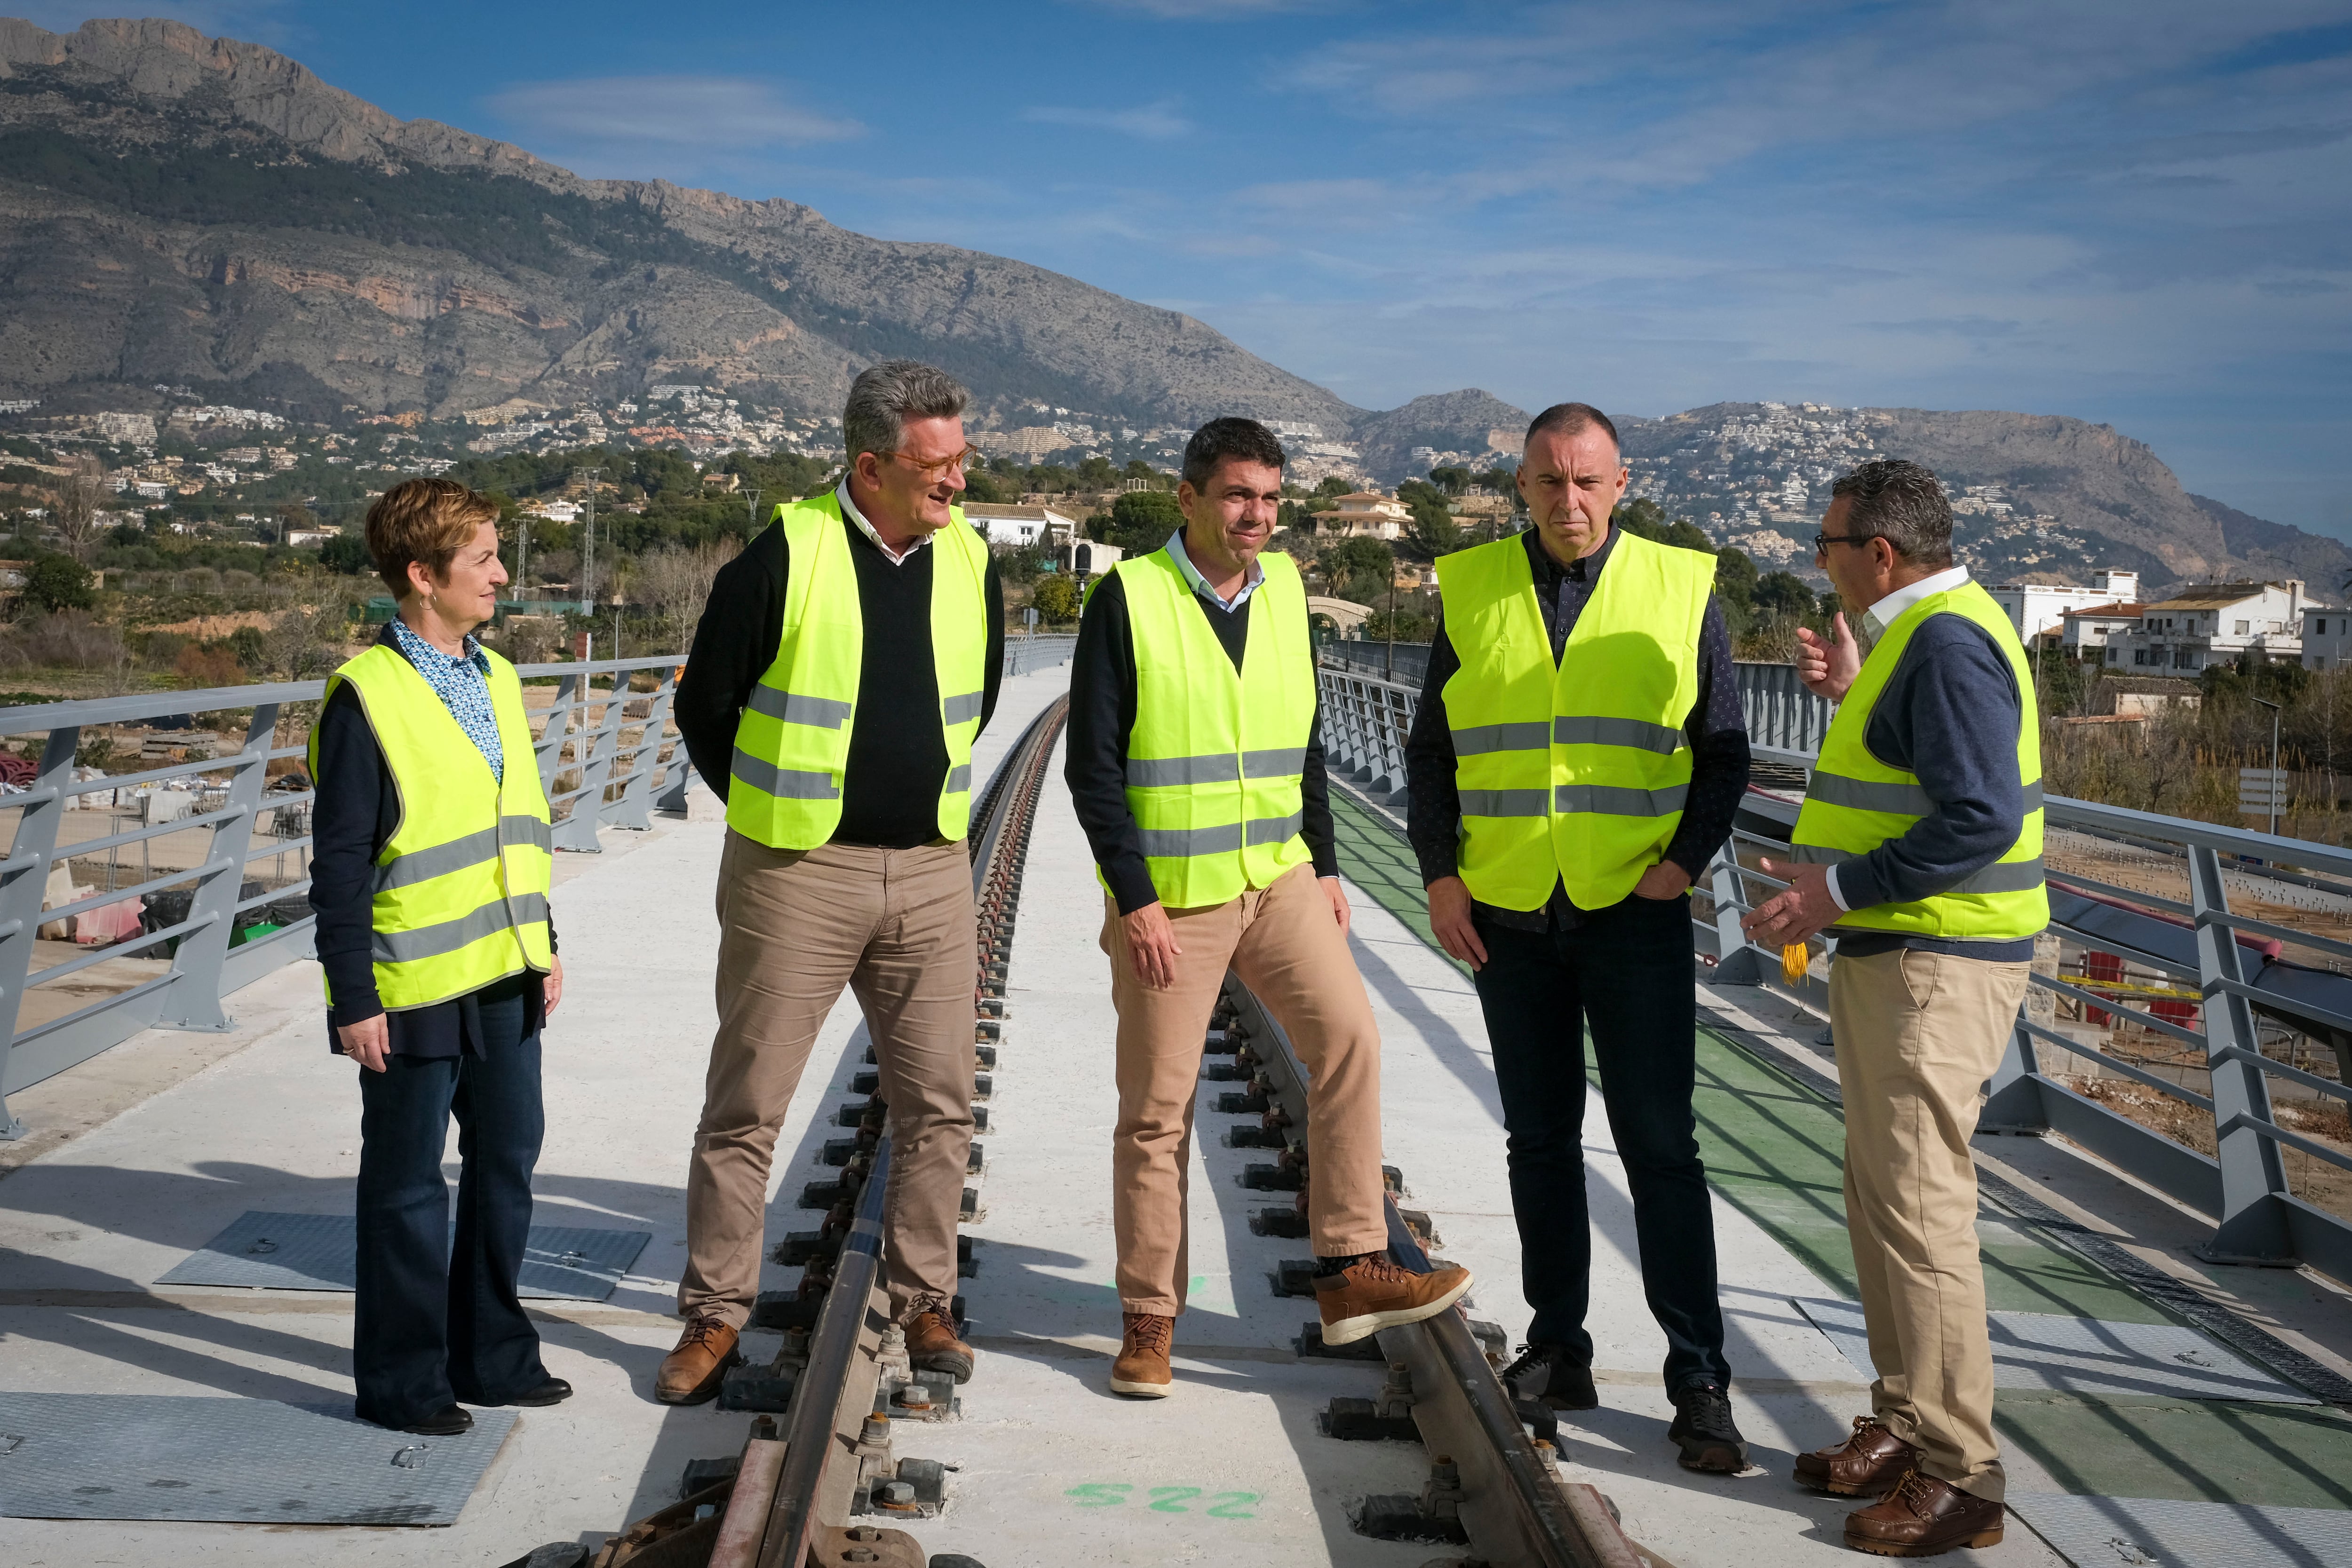
{"label": "grey metal bridge railing on the left, behind the woman", "polygon": [[[534,741],[557,849],[595,851],[600,825],[649,827],[654,804],[684,806],[691,769],[670,726],[680,668],[677,656],[522,665],[527,679],[557,682]],[[652,691],[630,689],[640,675],[654,677]],[[308,778],[275,788],[270,764],[306,755],[310,715],[296,705],[318,703],[325,689],[289,682],[0,708],[0,736],[42,736],[33,780],[0,795],[0,816],[14,816],[0,860],[0,1138],[26,1131],[7,1095],[139,1030],[223,1032],[223,997],[313,954],[303,893],[318,792]],[[92,729],[191,715],[240,724],[242,745],[132,773],[75,766]],[[120,827],[125,809],[136,825],[82,832],[85,823]],[[113,816],[92,823],[96,811]],[[125,851],[139,856],[136,870],[125,867]],[[52,872],[66,870],[66,886],[75,886],[75,867],[103,870],[106,886],[45,907]],[[118,867],[129,882],[118,884]],[[66,957],[61,943],[40,940],[42,931],[64,933],[66,922],[89,922],[113,940]],[[78,980],[71,997],[80,1004],[52,1004],[68,994],[68,980]]]}

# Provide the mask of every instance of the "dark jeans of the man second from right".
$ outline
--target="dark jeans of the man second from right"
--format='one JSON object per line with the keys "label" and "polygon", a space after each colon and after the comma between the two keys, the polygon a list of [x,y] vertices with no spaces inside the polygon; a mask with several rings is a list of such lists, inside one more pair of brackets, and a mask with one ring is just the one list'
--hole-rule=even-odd
{"label": "dark jeans of the man second from right", "polygon": [[1585,1051],[1632,1187],[1642,1293],[1665,1331],[1665,1387],[1729,1387],[1724,1312],[1715,1300],[1715,1215],[1698,1161],[1691,903],[1628,898],[1573,929],[1517,931],[1477,919],[1486,966],[1477,999],[1494,1046],[1510,1135],[1510,1208],[1519,1279],[1536,1309],[1526,1338],[1566,1345],[1588,1366],[1592,1227],[1585,1208]]}

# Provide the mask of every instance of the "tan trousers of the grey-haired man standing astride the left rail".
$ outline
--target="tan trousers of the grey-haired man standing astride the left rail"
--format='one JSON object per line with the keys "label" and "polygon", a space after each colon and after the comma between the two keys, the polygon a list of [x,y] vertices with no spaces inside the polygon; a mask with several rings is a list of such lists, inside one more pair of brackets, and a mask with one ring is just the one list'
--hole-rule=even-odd
{"label": "tan trousers of the grey-haired man standing astride the left rail", "polygon": [[767,849],[720,860],[720,1030],[687,1164],[684,1316],[741,1328],[760,1291],[776,1131],[816,1032],[851,987],[889,1103],[884,1274],[891,1309],[946,1309],[971,1154],[974,954],[964,844]]}

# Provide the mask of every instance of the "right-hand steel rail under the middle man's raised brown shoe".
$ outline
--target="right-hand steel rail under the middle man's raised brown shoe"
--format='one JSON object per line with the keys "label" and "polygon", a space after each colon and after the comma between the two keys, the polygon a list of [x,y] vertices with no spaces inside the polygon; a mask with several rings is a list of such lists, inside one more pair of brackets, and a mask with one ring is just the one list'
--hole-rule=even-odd
{"label": "right-hand steel rail under the middle man's raised brown shoe", "polygon": [[[1282,1105],[1291,1126],[1308,1128],[1308,1070],[1289,1032],[1237,973],[1225,973],[1225,997],[1249,1032],[1268,1098]],[[1272,1060],[1261,1051],[1272,1048]],[[1430,1258],[1388,1204],[1390,1255],[1416,1274]],[[1461,1307],[1421,1324],[1383,1328],[1381,1352],[1414,1373],[1414,1425],[1428,1450],[1461,1467],[1461,1519],[1477,1556],[1496,1568],[1637,1568],[1644,1561],[1590,1486],[1564,1483],[1536,1450],[1519,1422],[1510,1392],[1496,1378],[1486,1352],[1470,1338]]]}

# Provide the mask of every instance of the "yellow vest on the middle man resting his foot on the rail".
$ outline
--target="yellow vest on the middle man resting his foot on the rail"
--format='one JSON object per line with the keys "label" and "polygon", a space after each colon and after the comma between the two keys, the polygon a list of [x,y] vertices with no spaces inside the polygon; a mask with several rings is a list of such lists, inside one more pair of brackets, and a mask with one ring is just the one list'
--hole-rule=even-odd
{"label": "yellow vest on the middle man resting his foot on the rail", "polygon": [[1301,778],[1315,729],[1308,592],[1291,557],[1258,557],[1242,668],[1192,602],[1192,583],[1152,550],[1124,559],[1136,644],[1136,726],[1127,733],[1127,809],[1143,830],[1152,891],[1195,910],[1270,886],[1308,860]]}

